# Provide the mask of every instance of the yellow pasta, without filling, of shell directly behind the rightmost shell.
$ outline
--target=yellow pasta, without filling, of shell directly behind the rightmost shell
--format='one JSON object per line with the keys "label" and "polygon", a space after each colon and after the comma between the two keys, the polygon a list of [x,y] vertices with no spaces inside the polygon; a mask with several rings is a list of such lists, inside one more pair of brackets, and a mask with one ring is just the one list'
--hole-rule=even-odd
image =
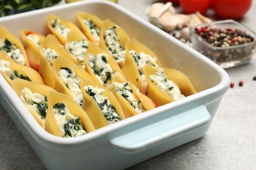
{"label": "yellow pasta, without filling, of shell directly behind the rightmost shell", "polygon": [[156,63],[158,64],[159,67],[161,67],[161,63],[157,58],[156,54],[152,52],[152,50],[150,50],[147,46],[140,43],[136,39],[131,39],[131,41],[127,41],[127,43],[125,44],[125,50],[126,50],[126,59],[121,70],[123,71],[123,74],[125,75],[127,80],[135,84],[135,86],[139,88],[140,92],[146,94],[147,88],[146,86],[143,86],[143,81],[140,76],[137,63],[133,58],[133,56],[129,53],[129,51],[134,50],[138,54],[140,52],[144,52],[144,54],[148,54],[152,56],[152,58],[156,58]]}

